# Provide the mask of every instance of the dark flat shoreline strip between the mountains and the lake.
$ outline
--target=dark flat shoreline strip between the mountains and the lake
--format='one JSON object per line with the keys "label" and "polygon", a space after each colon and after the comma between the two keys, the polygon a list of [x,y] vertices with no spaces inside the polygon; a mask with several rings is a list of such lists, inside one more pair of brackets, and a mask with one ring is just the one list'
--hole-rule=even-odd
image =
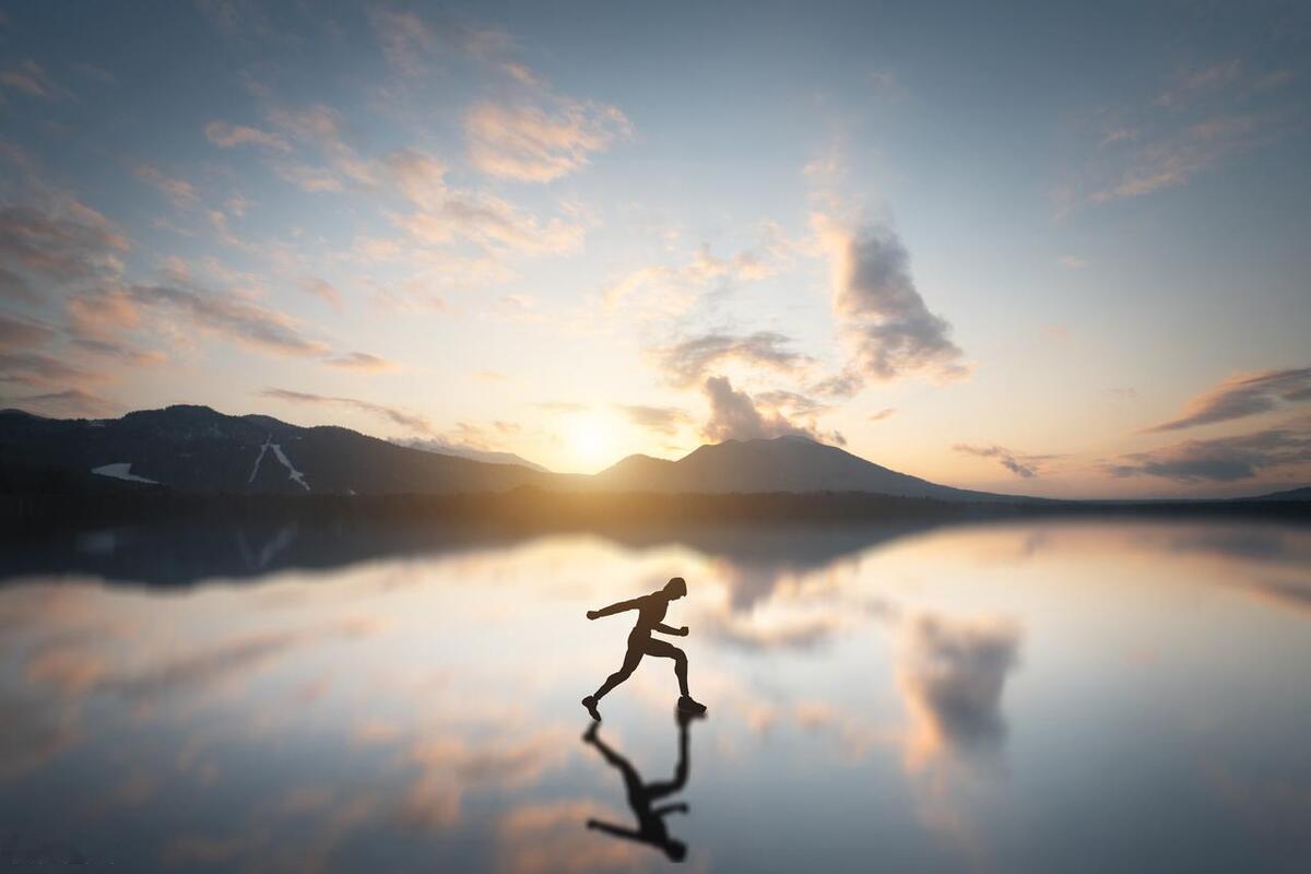
{"label": "dark flat shoreline strip between the mountains and the lake", "polygon": [[408,520],[565,531],[670,524],[932,523],[1038,518],[1311,522],[1307,501],[960,502],[869,493],[614,494],[523,487],[501,494],[267,495],[157,489],[0,495],[7,535],[157,520]]}

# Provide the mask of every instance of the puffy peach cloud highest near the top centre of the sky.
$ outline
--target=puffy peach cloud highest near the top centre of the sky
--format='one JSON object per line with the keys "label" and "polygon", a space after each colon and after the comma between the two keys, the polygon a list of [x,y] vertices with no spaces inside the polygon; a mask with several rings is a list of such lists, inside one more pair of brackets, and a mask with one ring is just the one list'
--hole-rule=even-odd
{"label": "puffy peach cloud highest near the top centre of the sky", "polygon": [[476,104],[464,117],[469,161],[482,173],[520,182],[549,182],[587,164],[594,152],[632,134],[615,106],[551,98],[531,104]]}

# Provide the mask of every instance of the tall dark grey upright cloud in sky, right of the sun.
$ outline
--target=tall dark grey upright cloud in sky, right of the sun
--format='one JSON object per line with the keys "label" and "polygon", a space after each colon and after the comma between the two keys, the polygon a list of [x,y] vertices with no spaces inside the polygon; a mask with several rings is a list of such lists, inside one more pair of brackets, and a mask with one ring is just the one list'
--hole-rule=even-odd
{"label": "tall dark grey upright cloud in sky, right of the sun", "polygon": [[848,229],[813,218],[834,266],[832,309],[852,359],[848,376],[886,381],[910,373],[966,375],[950,325],[928,311],[910,275],[910,256],[885,225]]}

